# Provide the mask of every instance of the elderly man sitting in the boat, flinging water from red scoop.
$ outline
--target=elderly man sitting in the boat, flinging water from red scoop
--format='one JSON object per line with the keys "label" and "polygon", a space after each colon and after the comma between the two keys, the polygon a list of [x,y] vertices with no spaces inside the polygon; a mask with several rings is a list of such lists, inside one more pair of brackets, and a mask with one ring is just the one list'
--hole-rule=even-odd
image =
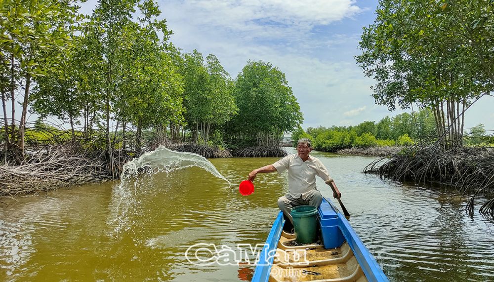
{"label": "elderly man sitting in the boat, flinging water from red scoop", "polygon": [[[326,184],[331,185],[333,179],[329,177],[328,170],[319,159],[309,155],[312,151],[311,141],[303,138],[298,140],[297,154],[287,157],[257,169],[248,174],[248,180],[253,181],[257,173],[269,173],[278,171],[282,173],[288,169],[288,194],[278,199],[278,206],[293,224],[290,211],[298,205],[310,204],[316,207],[321,205],[323,196],[316,188],[316,175],[321,177]],[[333,197],[339,199],[341,193],[332,183]]]}

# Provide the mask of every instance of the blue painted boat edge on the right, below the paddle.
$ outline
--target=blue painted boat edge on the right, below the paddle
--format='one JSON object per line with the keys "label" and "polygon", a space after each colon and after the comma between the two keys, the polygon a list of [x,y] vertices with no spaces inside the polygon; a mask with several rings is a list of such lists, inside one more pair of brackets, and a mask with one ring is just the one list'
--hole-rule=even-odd
{"label": "blue painted boat edge on the right, below the paddle", "polygon": [[339,212],[339,210],[333,205],[332,202],[328,202],[329,205],[334,209],[334,211],[336,211],[339,219],[339,229],[341,230],[341,233],[343,233],[346,242],[348,242],[348,245],[352,249],[355,258],[357,258],[360,267],[362,267],[367,280],[370,282],[389,282],[388,278],[382,271],[374,256],[364,245],[364,242],[362,242],[360,237],[350,225],[350,222],[348,222],[346,217],[341,212]]}

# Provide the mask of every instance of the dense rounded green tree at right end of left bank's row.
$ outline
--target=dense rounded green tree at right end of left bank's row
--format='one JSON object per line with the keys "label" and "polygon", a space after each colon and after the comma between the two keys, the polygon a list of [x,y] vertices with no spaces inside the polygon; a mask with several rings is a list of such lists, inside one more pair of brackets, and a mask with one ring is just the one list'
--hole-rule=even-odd
{"label": "dense rounded green tree at right end of left bank's row", "polygon": [[270,63],[248,61],[237,76],[234,96],[239,110],[227,125],[232,137],[250,138],[260,146],[276,145],[283,132],[302,122],[300,106],[285,74]]}

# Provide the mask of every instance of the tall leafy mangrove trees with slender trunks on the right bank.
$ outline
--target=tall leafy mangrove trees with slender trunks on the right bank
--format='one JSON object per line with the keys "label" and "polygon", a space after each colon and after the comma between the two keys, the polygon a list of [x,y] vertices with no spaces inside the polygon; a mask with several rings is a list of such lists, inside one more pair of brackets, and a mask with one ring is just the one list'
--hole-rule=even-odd
{"label": "tall leafy mangrove trees with slender trunks on the right bank", "polygon": [[[493,11],[492,1],[380,0],[356,56],[376,80],[375,102],[430,109],[424,118],[435,121],[438,137],[446,135],[444,147],[461,146],[462,112],[494,88]],[[419,128],[418,137],[432,129]],[[417,137],[406,131],[399,134]]]}

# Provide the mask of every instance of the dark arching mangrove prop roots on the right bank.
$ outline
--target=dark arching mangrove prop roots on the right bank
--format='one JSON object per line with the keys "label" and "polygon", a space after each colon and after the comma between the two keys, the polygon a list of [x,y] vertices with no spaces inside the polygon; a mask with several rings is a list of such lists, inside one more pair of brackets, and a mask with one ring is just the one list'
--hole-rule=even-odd
{"label": "dark arching mangrove prop roots on the right bank", "polygon": [[[391,158],[380,158],[364,168],[364,173],[381,178],[418,183],[440,182],[456,187],[460,193],[474,191],[465,209],[473,214],[478,195],[494,194],[494,148],[463,147],[437,150],[424,144],[403,148]],[[480,213],[494,218],[494,199],[480,208]]]}

